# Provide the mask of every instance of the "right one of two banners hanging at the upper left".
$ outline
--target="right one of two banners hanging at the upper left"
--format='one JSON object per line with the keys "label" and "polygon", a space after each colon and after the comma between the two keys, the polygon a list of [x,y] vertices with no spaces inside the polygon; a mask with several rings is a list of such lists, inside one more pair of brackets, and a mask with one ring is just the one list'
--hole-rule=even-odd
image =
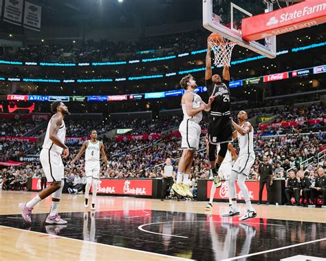
{"label": "right one of two banners hanging at the upper left", "polygon": [[40,31],[41,30],[41,6],[25,2],[24,23],[23,27]]}

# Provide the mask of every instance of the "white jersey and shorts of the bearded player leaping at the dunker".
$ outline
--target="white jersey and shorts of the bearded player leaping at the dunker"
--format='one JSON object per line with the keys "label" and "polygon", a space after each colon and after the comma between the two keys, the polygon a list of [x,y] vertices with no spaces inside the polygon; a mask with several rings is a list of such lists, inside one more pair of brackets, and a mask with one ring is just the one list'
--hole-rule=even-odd
{"label": "white jersey and shorts of the bearded player leaping at the dunker", "polygon": [[[193,93],[193,109],[198,109],[202,103],[202,98]],[[198,112],[194,116],[188,116],[186,105],[182,103],[182,112],[184,112],[184,120],[180,123],[179,132],[182,136],[181,149],[198,149],[199,137],[202,132],[199,126],[202,121],[203,114]]]}

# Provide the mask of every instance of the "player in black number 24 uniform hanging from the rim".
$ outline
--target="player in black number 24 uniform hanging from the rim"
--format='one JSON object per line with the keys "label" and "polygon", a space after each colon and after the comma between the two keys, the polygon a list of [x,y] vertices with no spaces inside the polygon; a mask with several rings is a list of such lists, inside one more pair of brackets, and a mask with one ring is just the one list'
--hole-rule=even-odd
{"label": "player in black number 24 uniform hanging from the rim", "polygon": [[[212,76],[212,61],[210,58],[210,45],[208,44],[206,54],[206,72],[205,81],[208,96],[214,96],[215,99],[211,105],[209,123],[208,123],[208,158],[210,161],[210,173],[213,174],[216,187],[221,187],[221,180],[218,172],[226,152],[228,143],[232,142],[232,124],[230,118],[230,72],[228,66],[224,66],[223,80],[218,74]],[[219,154],[215,156],[215,150],[219,144]]]}

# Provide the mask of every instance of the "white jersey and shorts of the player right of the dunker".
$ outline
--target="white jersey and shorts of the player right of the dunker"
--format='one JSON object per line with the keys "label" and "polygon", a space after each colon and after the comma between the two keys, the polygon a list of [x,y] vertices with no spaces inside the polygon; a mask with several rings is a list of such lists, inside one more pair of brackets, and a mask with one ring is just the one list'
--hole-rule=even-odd
{"label": "white jersey and shorts of the player right of the dunker", "polygon": [[243,136],[239,132],[237,133],[240,152],[235,165],[232,167],[232,171],[246,176],[248,176],[250,168],[254,165],[254,128],[251,128],[251,132]]}

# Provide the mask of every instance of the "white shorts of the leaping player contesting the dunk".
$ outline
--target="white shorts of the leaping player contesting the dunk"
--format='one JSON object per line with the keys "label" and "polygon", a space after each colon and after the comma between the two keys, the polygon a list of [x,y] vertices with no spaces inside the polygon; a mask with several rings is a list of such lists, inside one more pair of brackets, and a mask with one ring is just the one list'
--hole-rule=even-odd
{"label": "white shorts of the leaping player contesting the dunk", "polygon": [[181,149],[198,149],[202,129],[195,121],[184,120],[181,122],[179,132],[182,136]]}

